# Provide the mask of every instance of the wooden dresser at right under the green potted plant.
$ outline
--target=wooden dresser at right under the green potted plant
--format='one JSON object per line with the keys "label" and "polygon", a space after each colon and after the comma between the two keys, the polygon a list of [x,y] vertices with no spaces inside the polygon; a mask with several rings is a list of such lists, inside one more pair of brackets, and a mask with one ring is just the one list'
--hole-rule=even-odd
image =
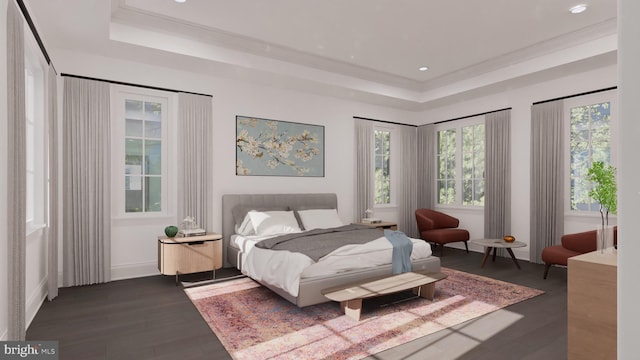
{"label": "wooden dresser at right under the green potted plant", "polygon": [[618,253],[571,257],[568,274],[569,360],[616,359]]}

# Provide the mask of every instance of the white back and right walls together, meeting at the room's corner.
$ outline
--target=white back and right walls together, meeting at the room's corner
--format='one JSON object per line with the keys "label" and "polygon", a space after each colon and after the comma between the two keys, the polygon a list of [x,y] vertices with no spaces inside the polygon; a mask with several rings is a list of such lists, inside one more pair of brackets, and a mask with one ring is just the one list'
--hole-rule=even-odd
{"label": "white back and right walls together, meeting at the room's corner", "polygon": [[[282,90],[221,77],[176,71],[158,66],[115,60],[69,51],[57,51],[59,72],[125,81],[213,95],[216,131],[214,168],[214,231],[221,230],[220,199],[227,193],[335,192],[345,222],[353,218],[353,116],[381,120],[430,123],[460,116],[512,107],[512,233],[529,242],[529,131],[533,102],[616,85],[616,66],[593,70],[478,98],[424,113],[412,113],[345,101],[332,97]],[[235,176],[235,116],[246,115],[325,126],[325,177]],[[179,159],[178,159],[179,161]],[[483,237],[482,211],[448,209],[461,219],[472,238]],[[396,219],[394,210],[377,216]],[[593,221],[592,221],[593,220]],[[113,279],[157,274],[156,238],[166,225],[177,224],[175,215],[157,220],[114,220],[112,229]],[[567,231],[591,229],[597,217],[566,223]],[[472,250],[482,251],[480,247]],[[529,248],[515,249],[529,259]]]}

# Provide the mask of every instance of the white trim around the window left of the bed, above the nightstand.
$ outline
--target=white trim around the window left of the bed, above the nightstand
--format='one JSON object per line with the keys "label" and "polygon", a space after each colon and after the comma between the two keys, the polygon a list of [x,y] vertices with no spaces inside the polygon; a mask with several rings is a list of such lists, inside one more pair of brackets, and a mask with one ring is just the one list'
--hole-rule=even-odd
{"label": "white trim around the window left of the bed, above the nightstand", "polygon": [[[125,157],[125,109],[122,105],[127,98],[144,101],[161,102],[163,104],[162,118],[162,211],[159,212],[125,212],[124,193],[124,157]],[[175,216],[176,197],[176,124],[172,119],[177,118],[176,95],[169,92],[111,85],[111,198],[113,199],[112,219],[166,219]]]}

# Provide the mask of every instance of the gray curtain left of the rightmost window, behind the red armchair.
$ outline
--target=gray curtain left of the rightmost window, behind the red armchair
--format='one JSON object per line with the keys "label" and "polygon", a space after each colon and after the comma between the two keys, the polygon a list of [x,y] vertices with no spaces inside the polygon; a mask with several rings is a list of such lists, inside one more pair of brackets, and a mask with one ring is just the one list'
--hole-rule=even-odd
{"label": "gray curtain left of the rightmost window, behind the red armchair", "polygon": [[564,233],[564,103],[531,107],[531,230],[530,260],[542,263],[546,246]]}

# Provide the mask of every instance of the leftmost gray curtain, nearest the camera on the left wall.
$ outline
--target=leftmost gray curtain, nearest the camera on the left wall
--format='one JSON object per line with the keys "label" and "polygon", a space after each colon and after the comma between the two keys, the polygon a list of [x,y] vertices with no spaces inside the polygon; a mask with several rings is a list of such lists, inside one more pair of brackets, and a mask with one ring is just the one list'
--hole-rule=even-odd
{"label": "leftmost gray curtain, nearest the camera on the left wall", "polygon": [[25,339],[27,145],[24,82],[24,21],[7,6],[7,340]]}

